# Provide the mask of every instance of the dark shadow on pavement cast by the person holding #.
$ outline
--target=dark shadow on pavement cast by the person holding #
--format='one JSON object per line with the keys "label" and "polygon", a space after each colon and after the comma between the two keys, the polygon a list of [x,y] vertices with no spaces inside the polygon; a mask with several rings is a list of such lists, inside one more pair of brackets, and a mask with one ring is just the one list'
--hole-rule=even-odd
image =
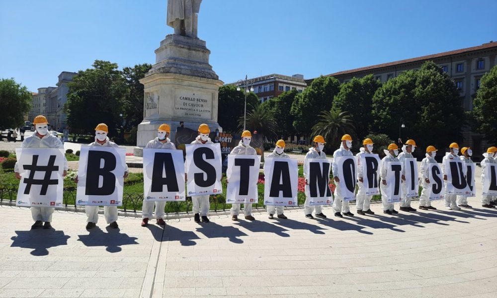
{"label": "dark shadow on pavement cast by the person holding #", "polygon": [[46,256],[49,254],[48,248],[67,245],[67,239],[71,238],[63,231],[56,231],[53,228],[15,231],[15,233],[17,236],[10,238],[13,241],[10,246],[33,249],[30,252],[33,256]]}

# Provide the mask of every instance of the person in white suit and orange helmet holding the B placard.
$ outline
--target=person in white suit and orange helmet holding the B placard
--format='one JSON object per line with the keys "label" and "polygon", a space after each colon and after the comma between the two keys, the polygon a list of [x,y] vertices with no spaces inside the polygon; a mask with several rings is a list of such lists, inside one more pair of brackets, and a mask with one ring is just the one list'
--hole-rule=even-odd
{"label": "person in white suit and orange helmet holding the B placard", "polygon": [[[114,147],[119,148],[119,146],[110,142],[107,134],[109,133],[109,129],[105,123],[100,123],[95,127],[95,142],[91,143],[88,146],[96,146],[96,147]],[[124,164],[124,178],[128,177],[128,165]],[[76,183],[78,183],[78,177],[76,177]],[[86,213],[86,229],[91,229],[95,227],[98,223],[98,206],[84,206],[84,212]],[[104,206],[103,213],[105,217],[105,221],[112,228],[118,228],[117,224],[117,207],[116,206]]]}

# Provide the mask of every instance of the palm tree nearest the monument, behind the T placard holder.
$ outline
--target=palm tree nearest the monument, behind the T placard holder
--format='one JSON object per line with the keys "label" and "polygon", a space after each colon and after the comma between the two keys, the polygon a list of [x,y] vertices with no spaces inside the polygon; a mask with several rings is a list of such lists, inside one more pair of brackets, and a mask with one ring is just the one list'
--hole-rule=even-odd
{"label": "palm tree nearest the monument, behind the T placard holder", "polygon": [[[244,127],[244,116],[238,120],[238,127]],[[276,139],[276,121],[270,110],[263,105],[256,105],[252,110],[247,112],[247,129],[257,131],[268,140]]]}

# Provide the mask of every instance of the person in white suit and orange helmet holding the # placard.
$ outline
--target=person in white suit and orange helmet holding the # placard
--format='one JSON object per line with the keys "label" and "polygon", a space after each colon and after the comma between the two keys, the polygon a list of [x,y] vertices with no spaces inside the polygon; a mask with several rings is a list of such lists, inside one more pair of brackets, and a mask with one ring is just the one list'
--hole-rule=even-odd
{"label": "person in white suit and orange helmet holding the # placard", "polygon": [[[48,133],[48,121],[45,116],[38,115],[33,120],[33,125],[36,133],[27,137],[22,141],[21,148],[59,148],[64,149],[62,142],[55,136]],[[67,159],[64,157],[64,176],[68,170]],[[19,174],[19,165],[17,162],[14,165],[15,178],[21,179]],[[51,228],[52,214],[55,208],[52,207],[31,207],[31,216],[33,217],[34,224],[31,225],[32,229],[42,227],[45,229]],[[45,222],[45,224],[43,224]]]}

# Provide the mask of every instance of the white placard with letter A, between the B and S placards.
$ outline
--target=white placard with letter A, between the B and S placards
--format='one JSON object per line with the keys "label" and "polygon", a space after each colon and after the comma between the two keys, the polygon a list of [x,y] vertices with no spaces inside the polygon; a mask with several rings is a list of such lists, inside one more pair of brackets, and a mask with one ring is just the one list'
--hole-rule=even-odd
{"label": "white placard with letter A, between the B and S placards", "polygon": [[185,201],[183,150],[143,149],[145,201]]}

